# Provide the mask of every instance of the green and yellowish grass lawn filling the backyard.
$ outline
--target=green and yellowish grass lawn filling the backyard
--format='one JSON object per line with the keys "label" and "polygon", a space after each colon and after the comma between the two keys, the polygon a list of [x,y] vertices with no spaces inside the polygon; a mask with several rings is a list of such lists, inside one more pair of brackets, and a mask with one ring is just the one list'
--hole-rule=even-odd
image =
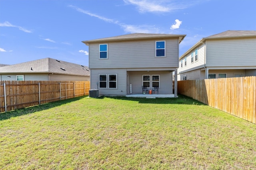
{"label": "green and yellowish grass lawn filling the backyard", "polygon": [[196,100],[74,98],[0,113],[0,169],[256,169],[256,125]]}

